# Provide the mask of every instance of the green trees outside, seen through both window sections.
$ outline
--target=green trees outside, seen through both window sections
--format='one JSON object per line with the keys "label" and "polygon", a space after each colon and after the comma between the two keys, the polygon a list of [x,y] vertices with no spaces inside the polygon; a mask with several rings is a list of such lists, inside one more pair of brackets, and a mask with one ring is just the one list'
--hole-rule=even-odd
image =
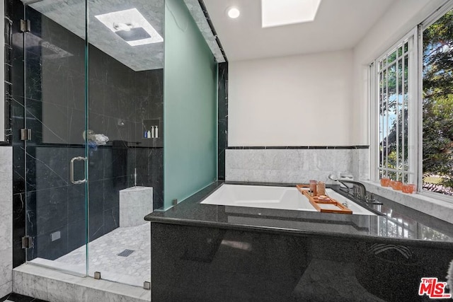
{"label": "green trees outside, seen through both window sections", "polygon": [[[408,79],[408,64],[402,53],[398,48],[389,55],[379,85],[387,87],[379,91],[381,109],[398,115],[381,143],[381,152],[389,155],[384,165],[396,169],[408,158],[407,82],[402,81]],[[453,187],[453,10],[423,32],[423,175],[438,175],[442,185]]]}

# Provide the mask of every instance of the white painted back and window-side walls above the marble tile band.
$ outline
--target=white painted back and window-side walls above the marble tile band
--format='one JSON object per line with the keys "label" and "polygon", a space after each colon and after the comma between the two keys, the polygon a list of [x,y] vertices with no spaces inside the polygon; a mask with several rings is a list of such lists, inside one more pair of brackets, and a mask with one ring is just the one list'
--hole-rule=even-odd
{"label": "white painted back and window-side walls above the marble tile band", "polygon": [[369,64],[446,2],[395,1],[352,55],[230,62],[229,146],[369,145]]}

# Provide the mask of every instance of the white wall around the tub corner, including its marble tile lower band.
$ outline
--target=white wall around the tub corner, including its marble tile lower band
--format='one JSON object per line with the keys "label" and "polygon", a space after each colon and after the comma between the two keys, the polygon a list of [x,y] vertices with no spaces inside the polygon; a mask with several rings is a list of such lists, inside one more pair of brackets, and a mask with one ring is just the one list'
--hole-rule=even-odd
{"label": "white wall around the tub corner, including its marble tile lower band", "polygon": [[[395,1],[351,51],[230,62],[229,146],[369,145],[369,63],[444,3]],[[368,153],[226,150],[226,180],[366,180]]]}

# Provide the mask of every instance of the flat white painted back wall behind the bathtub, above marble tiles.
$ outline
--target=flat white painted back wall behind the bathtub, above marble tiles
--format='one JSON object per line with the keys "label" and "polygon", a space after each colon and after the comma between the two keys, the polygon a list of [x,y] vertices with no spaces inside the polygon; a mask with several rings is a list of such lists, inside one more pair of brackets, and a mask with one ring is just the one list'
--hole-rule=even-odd
{"label": "flat white painted back wall behind the bathtub, above marble tiles", "polygon": [[346,146],[352,50],[229,63],[229,146]]}

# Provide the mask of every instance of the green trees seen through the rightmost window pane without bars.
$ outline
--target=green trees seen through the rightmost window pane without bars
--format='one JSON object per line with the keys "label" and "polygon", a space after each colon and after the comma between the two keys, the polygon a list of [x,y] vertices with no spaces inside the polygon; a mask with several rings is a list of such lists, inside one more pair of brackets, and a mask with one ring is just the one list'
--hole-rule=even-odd
{"label": "green trees seen through the rightmost window pane without bars", "polygon": [[453,187],[453,11],[423,32],[423,173]]}

